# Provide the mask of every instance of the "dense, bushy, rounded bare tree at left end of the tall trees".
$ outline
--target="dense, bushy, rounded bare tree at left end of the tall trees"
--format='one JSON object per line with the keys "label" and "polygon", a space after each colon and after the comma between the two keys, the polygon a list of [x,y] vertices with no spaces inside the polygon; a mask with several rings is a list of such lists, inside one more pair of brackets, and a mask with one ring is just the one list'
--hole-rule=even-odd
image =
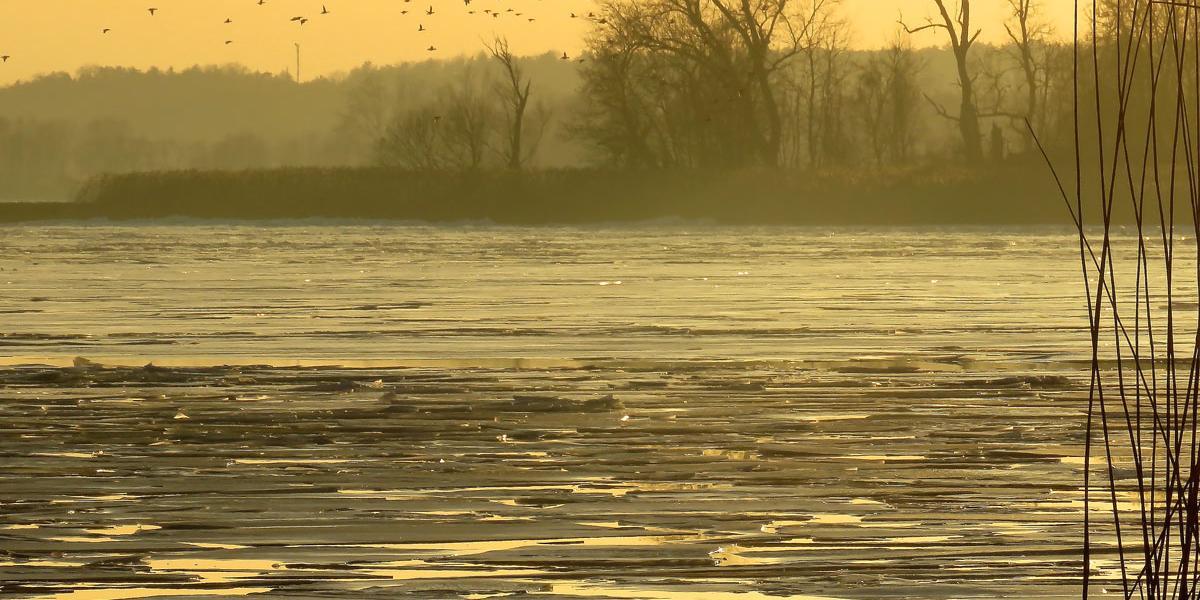
{"label": "dense, bushy, rounded bare tree at left end of the tall trees", "polygon": [[[596,19],[587,86],[619,128],[607,139],[643,166],[739,167],[764,155],[755,88],[737,35],[709,4],[608,0]],[[620,77],[604,82],[600,77]],[[596,85],[593,85],[595,83]],[[641,140],[638,140],[641,138]]]}

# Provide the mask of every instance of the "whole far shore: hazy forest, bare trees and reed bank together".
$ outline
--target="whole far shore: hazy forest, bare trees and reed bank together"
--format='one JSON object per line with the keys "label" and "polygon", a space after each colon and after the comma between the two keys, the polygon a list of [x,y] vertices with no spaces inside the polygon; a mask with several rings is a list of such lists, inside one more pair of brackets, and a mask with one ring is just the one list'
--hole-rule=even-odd
{"label": "whole far shore: hazy forest, bare trees and reed bank together", "polygon": [[1075,62],[1120,62],[1008,1],[994,22],[972,22],[968,0],[922,2],[942,18],[910,14],[871,48],[851,44],[836,0],[599,0],[574,53],[518,55],[499,35],[474,56],[310,80],[236,65],[47,74],[0,88],[0,199],[84,202],[0,220],[1067,224],[1042,154],[1073,155]]}

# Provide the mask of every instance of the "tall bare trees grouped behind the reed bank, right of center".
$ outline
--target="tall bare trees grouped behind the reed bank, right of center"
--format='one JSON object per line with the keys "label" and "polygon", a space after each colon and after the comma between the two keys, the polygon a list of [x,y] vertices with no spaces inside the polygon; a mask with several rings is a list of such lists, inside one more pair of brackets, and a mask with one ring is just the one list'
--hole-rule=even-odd
{"label": "tall bare trees grouped behind the reed bank, right of center", "polygon": [[[947,130],[964,163],[1000,160],[1026,119],[1056,118],[1048,82],[1069,77],[1037,1],[1008,2],[1010,18],[988,24],[1004,46],[978,43],[970,0],[930,0],[938,18],[898,23],[886,47],[854,53],[838,0],[604,0],[576,131],[630,166],[910,164]],[[931,34],[953,89],[923,84],[913,43]]]}

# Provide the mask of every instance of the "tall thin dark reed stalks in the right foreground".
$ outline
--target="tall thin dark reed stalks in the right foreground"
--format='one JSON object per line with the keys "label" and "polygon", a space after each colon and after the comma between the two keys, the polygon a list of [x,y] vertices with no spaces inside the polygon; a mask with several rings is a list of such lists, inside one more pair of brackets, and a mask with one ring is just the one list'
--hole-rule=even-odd
{"label": "tall thin dark reed stalks in the right foreground", "polygon": [[1076,0],[1074,181],[1056,180],[1091,332],[1084,598],[1200,598],[1198,34],[1195,0]]}

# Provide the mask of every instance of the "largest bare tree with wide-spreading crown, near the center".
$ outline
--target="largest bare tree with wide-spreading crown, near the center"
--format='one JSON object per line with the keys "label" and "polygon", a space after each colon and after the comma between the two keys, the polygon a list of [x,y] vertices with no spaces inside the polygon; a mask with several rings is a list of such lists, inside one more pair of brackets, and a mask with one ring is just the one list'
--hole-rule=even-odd
{"label": "largest bare tree with wide-spreading crown, near the center", "polygon": [[[700,162],[773,167],[787,131],[779,79],[803,48],[814,7],[833,4],[601,0],[596,38],[670,70],[659,74],[678,89],[659,109],[671,113],[647,121],[665,127],[660,140]],[[688,120],[689,127],[672,127]]]}

